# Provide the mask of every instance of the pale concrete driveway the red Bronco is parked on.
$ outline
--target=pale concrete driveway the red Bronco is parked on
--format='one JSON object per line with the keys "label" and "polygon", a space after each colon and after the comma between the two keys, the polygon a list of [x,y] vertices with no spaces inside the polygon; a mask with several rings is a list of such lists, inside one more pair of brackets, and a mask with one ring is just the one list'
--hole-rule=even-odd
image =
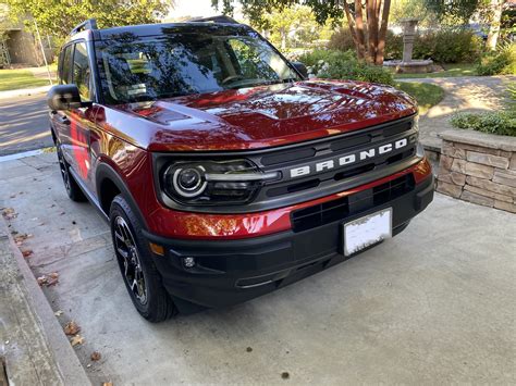
{"label": "pale concrete driveway the red Bronco is parked on", "polygon": [[[228,310],[149,324],[108,226],[65,197],[56,154],[0,163],[0,207],[94,384],[514,384],[516,216],[437,195],[394,239]],[[0,313],[2,311],[0,310]],[[101,353],[91,362],[93,351]]]}

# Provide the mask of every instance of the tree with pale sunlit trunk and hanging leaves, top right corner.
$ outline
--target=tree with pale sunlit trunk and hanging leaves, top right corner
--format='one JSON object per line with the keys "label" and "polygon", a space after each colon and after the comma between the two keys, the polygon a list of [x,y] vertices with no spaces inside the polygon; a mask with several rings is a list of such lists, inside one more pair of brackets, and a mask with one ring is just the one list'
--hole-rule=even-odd
{"label": "tree with pale sunlit trunk and hanging leaves, top right corner", "polygon": [[467,23],[474,14],[489,23],[486,46],[494,50],[500,37],[503,7],[507,0],[426,0],[440,18],[454,17],[457,23]]}

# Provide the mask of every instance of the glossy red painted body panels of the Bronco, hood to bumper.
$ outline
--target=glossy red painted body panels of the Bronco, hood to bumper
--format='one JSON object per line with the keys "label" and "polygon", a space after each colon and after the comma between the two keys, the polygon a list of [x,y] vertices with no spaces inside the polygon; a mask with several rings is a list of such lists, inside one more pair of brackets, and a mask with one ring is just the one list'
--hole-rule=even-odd
{"label": "glossy red painted body panels of the Bronco, hood to bumper", "polygon": [[[287,100],[286,102],[284,100]],[[238,113],[239,112],[239,113]],[[81,176],[95,191],[95,171],[110,164],[123,177],[148,231],[173,238],[237,239],[291,227],[290,213],[393,179],[398,174],[297,206],[249,214],[201,214],[172,210],[157,199],[151,151],[242,150],[287,145],[357,130],[416,112],[415,104],[392,88],[357,82],[299,82],[188,96],[114,108],[94,105],[91,158],[74,151]],[[77,111],[79,113],[79,111]],[[75,141],[84,141],[72,125]],[[416,182],[430,173],[425,160],[403,172]]]}

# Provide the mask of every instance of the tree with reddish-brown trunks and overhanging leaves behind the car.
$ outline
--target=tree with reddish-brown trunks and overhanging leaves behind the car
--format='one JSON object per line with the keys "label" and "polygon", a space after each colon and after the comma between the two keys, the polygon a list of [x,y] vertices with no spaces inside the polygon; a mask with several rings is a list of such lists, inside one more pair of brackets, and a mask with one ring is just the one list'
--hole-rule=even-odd
{"label": "tree with reddish-brown trunks and overhanging leaves behind the car", "polygon": [[[355,42],[358,59],[368,63],[382,64],[385,51],[385,35],[389,23],[391,0],[238,0],[244,14],[250,20],[260,17],[263,12],[285,9],[294,4],[306,4],[315,13],[319,24],[332,17],[346,17]],[[232,0],[212,0],[216,8],[231,13]]]}

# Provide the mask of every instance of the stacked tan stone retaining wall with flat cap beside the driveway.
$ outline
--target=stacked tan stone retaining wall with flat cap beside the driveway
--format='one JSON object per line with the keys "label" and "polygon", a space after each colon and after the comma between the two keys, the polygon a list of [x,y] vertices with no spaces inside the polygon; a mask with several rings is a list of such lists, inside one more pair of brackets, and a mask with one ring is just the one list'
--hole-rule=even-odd
{"label": "stacked tan stone retaining wall with flat cap beside the driveway", "polygon": [[450,130],[443,139],[437,190],[516,213],[516,137]]}

